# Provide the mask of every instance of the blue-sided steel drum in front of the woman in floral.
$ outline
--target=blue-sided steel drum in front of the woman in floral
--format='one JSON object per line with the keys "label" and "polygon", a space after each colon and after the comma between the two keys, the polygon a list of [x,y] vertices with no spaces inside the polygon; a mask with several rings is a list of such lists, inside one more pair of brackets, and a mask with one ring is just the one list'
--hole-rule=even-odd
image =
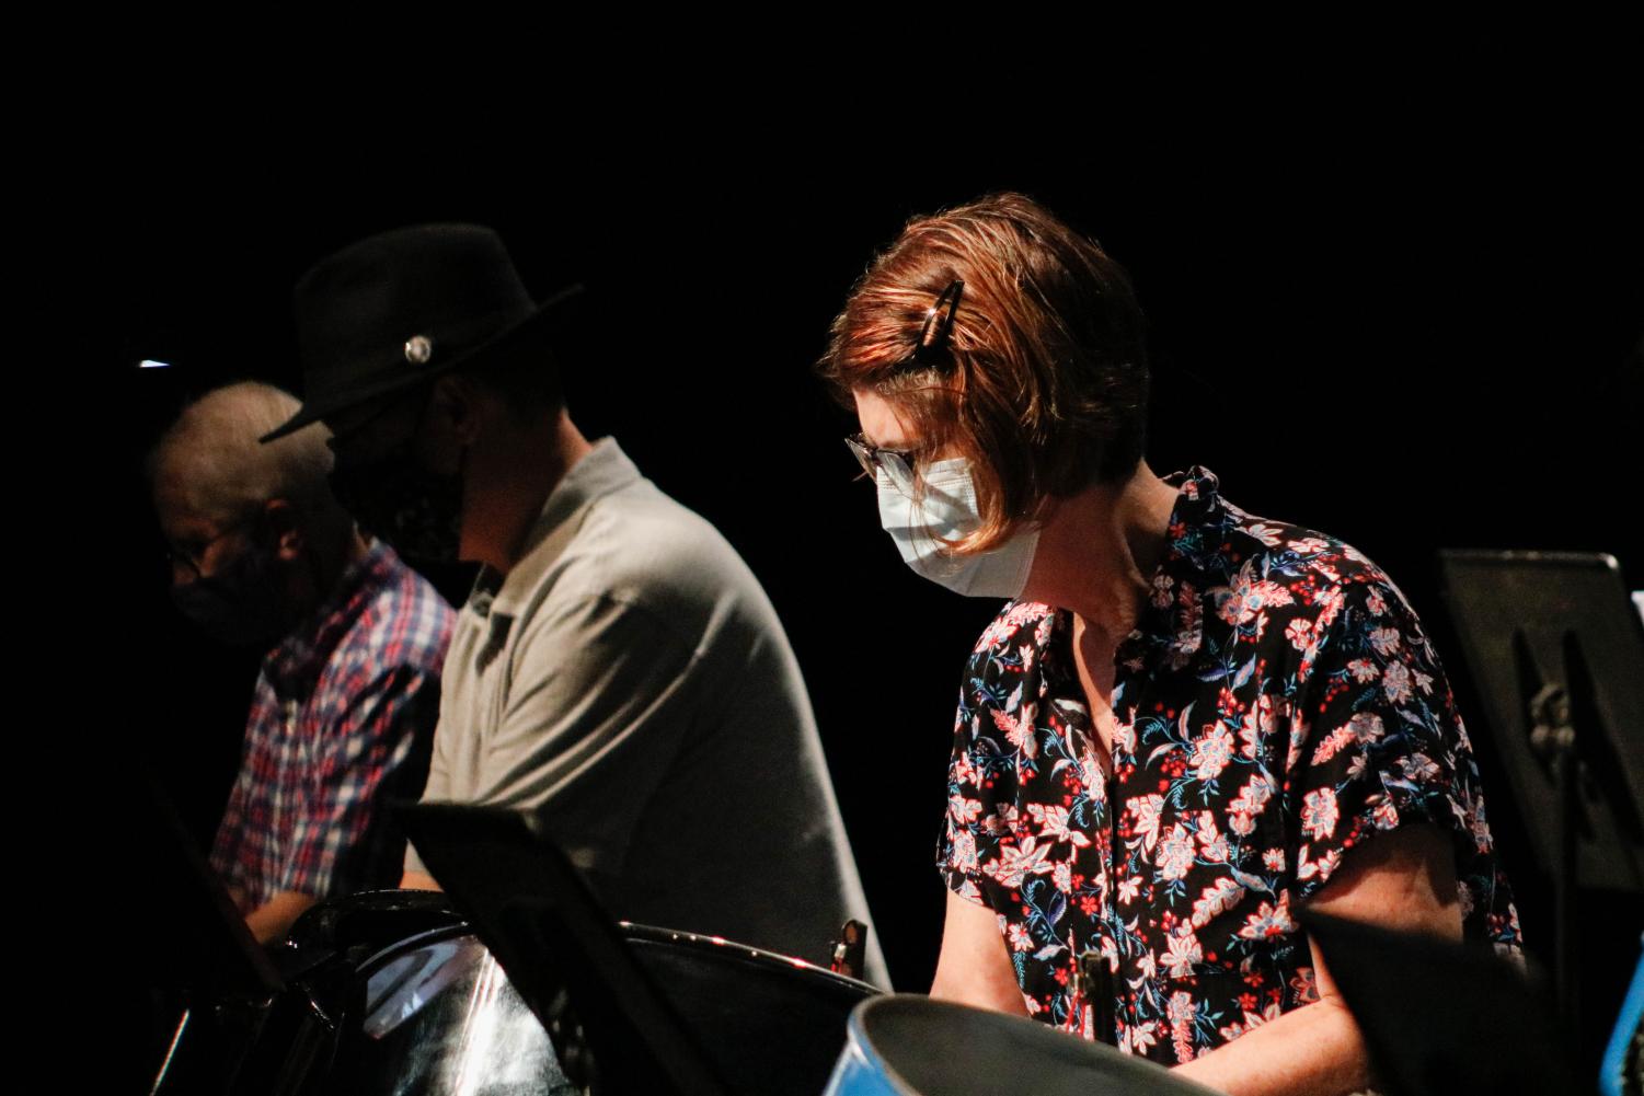
{"label": "blue-sided steel drum in front of the woman in floral", "polygon": [[[773,1089],[774,1091],[774,1089]],[[857,1006],[824,1096],[1215,1096],[1164,1066],[1018,1015],[914,994]]]}

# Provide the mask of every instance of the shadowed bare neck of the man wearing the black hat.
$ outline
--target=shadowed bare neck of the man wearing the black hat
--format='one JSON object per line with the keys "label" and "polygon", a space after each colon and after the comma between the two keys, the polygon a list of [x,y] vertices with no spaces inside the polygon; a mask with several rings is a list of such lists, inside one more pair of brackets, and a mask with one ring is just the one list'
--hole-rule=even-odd
{"label": "shadowed bare neck of the man wearing the black hat", "polygon": [[508,573],[547,496],[592,449],[562,408],[536,419],[501,416],[469,449],[460,557]]}

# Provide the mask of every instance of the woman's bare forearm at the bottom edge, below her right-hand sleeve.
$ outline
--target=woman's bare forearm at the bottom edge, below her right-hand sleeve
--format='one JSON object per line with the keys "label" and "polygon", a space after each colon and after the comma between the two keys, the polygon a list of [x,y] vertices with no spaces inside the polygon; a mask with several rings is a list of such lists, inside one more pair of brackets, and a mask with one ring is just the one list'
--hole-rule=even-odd
{"label": "woman's bare forearm at the bottom edge, below her right-hand sleeve", "polygon": [[1365,1037],[1340,997],[1322,997],[1175,1066],[1231,1096],[1330,1096],[1369,1086]]}

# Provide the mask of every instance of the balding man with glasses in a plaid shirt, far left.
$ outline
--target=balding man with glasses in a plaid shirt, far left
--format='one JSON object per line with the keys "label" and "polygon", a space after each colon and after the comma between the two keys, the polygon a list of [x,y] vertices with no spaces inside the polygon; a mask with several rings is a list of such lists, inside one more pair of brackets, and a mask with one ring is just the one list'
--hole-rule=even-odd
{"label": "balding man with glasses in a plaid shirt, far left", "polygon": [[317,899],[396,882],[404,838],[383,800],[423,790],[452,624],[330,496],[322,427],[258,444],[296,409],[266,385],[217,389],[150,463],[178,606],[270,647],[210,854],[263,942]]}

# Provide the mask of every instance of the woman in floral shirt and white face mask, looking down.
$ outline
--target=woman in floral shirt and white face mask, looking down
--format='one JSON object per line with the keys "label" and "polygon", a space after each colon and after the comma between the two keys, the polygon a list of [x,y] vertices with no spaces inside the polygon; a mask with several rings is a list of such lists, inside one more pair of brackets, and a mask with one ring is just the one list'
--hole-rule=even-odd
{"label": "woman in floral shirt and white face mask, looking down", "polygon": [[1295,922],[1519,948],[1478,771],[1392,582],[1143,460],[1128,279],[1004,194],[907,225],[820,366],[903,559],[1011,601],[965,670],[932,994],[1233,1093],[1368,1083]]}

